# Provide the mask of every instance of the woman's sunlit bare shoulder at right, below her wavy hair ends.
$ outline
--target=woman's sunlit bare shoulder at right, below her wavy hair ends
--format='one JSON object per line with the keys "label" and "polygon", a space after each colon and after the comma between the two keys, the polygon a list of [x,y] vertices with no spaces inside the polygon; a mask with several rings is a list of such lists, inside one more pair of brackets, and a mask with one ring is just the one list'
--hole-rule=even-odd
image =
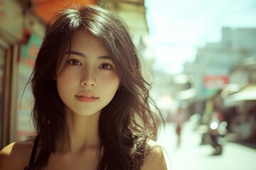
{"label": "woman's sunlit bare shoulder at right, below her wavy hair ends", "polygon": [[154,149],[146,156],[142,170],[167,170],[166,160],[161,147],[154,141],[149,141],[148,145]]}

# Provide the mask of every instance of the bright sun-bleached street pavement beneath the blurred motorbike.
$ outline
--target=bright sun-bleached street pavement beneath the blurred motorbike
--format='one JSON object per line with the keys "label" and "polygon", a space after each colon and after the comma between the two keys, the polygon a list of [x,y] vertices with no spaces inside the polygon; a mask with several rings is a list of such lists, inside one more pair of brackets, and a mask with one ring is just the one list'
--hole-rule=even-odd
{"label": "bright sun-bleached street pavement beneath the blurred motorbike", "polygon": [[180,147],[173,123],[161,128],[158,143],[164,147],[168,170],[256,170],[255,148],[225,141],[223,154],[213,156],[213,148],[201,145],[201,135],[190,122],[183,125]]}

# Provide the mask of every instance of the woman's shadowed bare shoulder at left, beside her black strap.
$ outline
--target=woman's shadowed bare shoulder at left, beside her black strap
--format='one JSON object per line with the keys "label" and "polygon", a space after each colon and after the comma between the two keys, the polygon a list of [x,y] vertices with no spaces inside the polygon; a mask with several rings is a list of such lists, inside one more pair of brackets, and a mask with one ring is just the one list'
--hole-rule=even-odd
{"label": "woman's shadowed bare shoulder at left, beside her black strap", "polygon": [[24,169],[28,166],[34,138],[14,142],[0,151],[0,169]]}

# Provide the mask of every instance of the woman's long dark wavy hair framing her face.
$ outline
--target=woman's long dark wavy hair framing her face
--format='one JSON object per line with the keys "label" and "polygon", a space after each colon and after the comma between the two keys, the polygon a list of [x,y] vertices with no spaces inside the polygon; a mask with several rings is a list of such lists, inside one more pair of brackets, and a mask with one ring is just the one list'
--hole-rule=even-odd
{"label": "woman's long dark wavy hair framing her face", "polygon": [[65,8],[48,23],[30,80],[33,123],[41,140],[31,168],[45,167],[50,153],[55,152],[56,141],[65,136],[63,101],[55,77],[65,50],[80,28],[100,38],[112,56],[120,81],[119,90],[100,113],[101,157],[97,169],[141,169],[151,149],[146,143],[156,140],[161,114],[152,111],[151,106],[156,105],[149,96],[151,84],[142,77],[140,57],[127,26],[114,12],[100,6]]}

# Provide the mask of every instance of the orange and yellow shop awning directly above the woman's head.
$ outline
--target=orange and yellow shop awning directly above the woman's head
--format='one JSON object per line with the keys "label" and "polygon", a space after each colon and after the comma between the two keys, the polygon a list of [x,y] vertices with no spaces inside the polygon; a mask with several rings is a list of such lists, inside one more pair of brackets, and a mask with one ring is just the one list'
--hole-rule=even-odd
{"label": "orange and yellow shop awning directly above the woman's head", "polygon": [[146,8],[144,0],[31,0],[33,11],[44,22],[61,8],[71,4],[98,4],[111,8],[127,23],[132,35],[145,35],[149,33],[146,23]]}

